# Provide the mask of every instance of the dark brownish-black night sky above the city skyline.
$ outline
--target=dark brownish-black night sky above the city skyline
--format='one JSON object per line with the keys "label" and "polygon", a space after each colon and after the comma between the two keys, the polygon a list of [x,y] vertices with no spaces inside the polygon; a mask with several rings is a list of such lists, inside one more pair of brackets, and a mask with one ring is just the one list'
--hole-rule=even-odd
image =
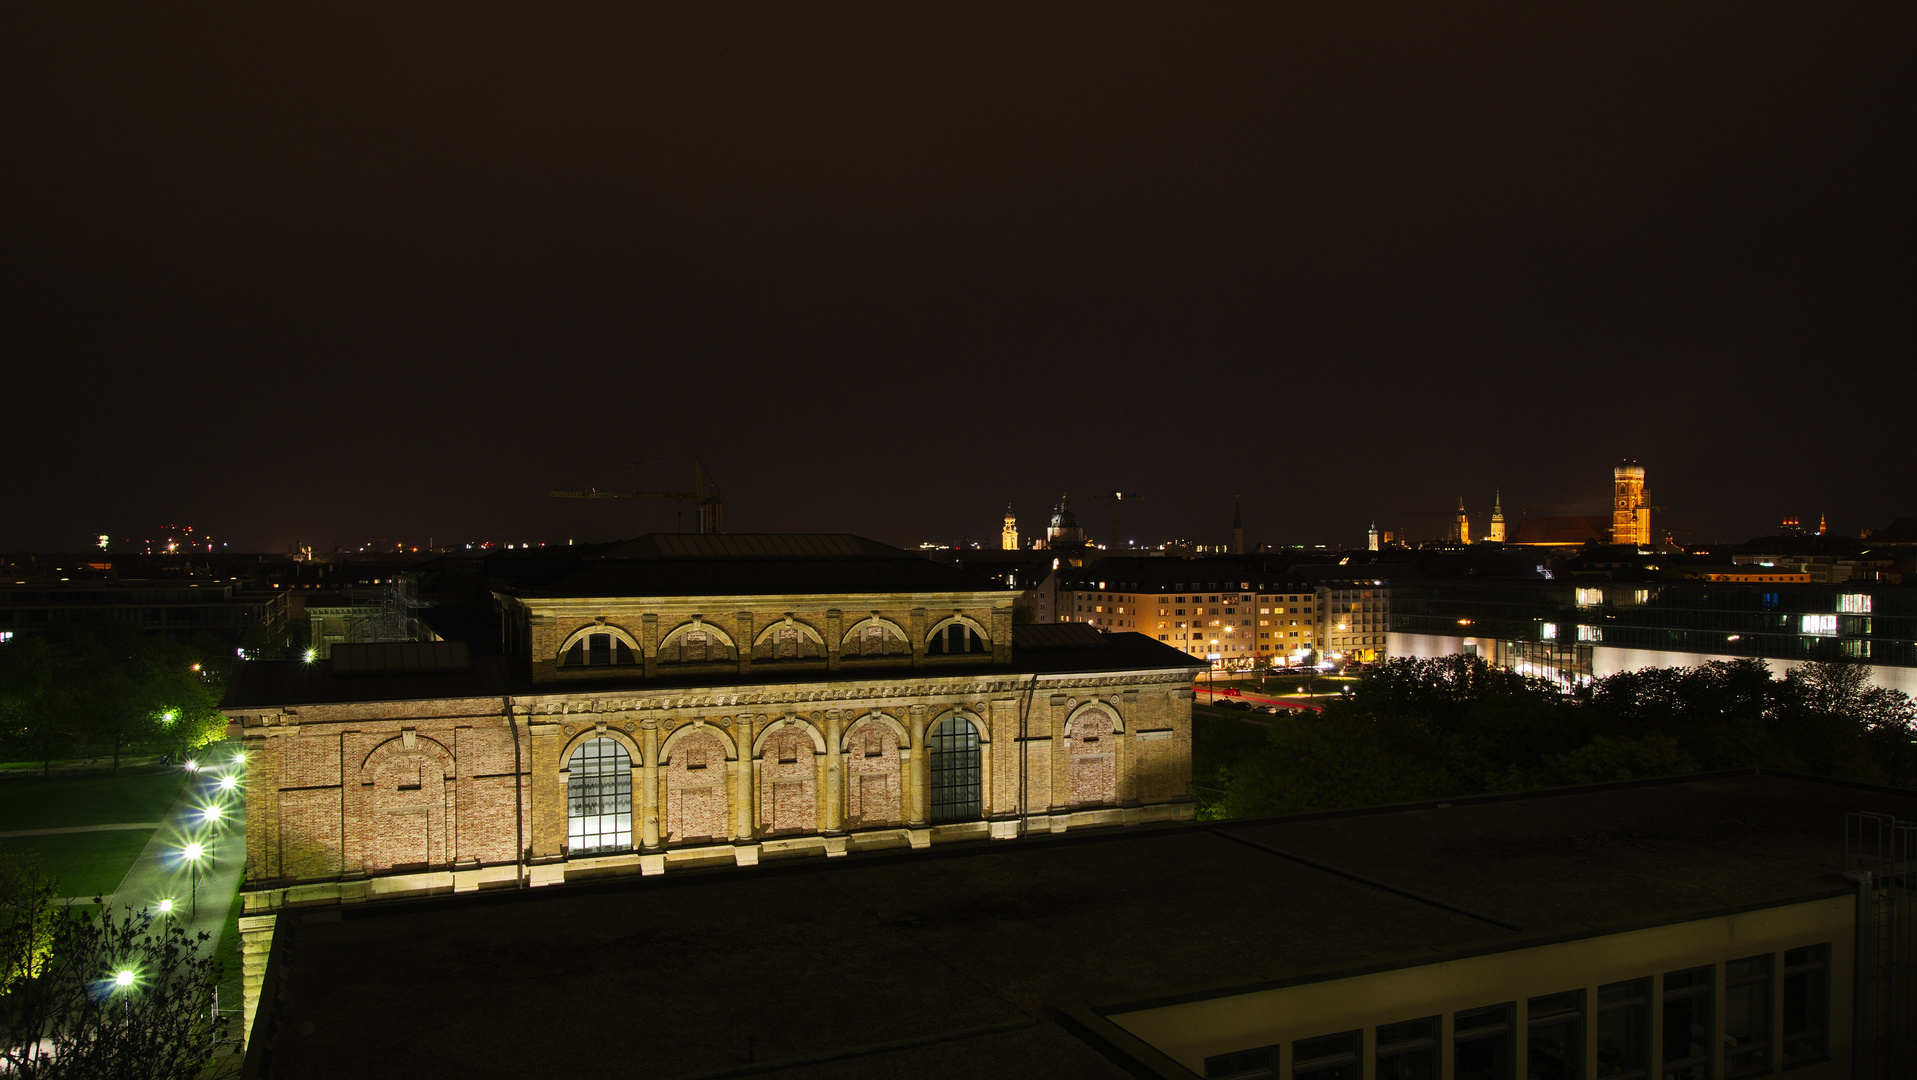
{"label": "dark brownish-black night sky above the city skyline", "polygon": [[0,15],[0,549],[1917,514],[1907,6],[309,8]]}

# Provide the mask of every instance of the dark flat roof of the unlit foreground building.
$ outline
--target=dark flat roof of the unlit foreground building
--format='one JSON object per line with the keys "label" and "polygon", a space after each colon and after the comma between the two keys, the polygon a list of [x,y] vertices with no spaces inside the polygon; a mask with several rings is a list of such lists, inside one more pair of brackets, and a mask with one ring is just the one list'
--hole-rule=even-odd
{"label": "dark flat roof of the unlit foreground building", "polygon": [[1852,810],[1917,794],[1720,773],[288,913],[255,1055],[289,1080],[1121,1078],[1060,1005],[1835,896]]}

